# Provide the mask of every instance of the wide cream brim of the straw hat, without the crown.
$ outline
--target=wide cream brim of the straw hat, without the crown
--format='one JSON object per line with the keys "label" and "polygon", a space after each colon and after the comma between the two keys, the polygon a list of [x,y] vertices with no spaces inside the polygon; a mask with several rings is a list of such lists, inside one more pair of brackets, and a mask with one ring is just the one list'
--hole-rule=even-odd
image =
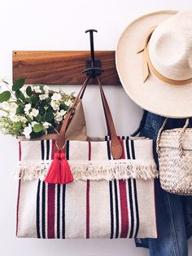
{"label": "wide cream brim of the straw hat, without the crown", "polygon": [[169,85],[153,73],[143,82],[142,53],[137,54],[149,29],[176,13],[157,11],[129,24],[116,47],[116,68],[124,90],[137,105],[160,116],[183,118],[192,116],[192,83]]}

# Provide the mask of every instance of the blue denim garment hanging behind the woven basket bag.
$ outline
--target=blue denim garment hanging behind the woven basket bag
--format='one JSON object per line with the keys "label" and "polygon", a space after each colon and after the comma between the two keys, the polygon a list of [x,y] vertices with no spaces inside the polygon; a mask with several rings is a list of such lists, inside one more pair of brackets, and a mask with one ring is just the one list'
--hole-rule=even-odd
{"label": "blue denim garment hanging behind the woven basket bag", "polygon": [[[141,136],[154,140],[154,156],[158,166],[155,141],[164,117],[146,113],[142,123]],[[191,120],[190,120],[190,123]],[[182,127],[184,119],[168,119],[165,129]],[[187,256],[187,239],[192,235],[192,196],[178,196],[160,188],[159,179],[155,182],[157,239],[136,239],[137,247],[149,248],[151,256]]]}

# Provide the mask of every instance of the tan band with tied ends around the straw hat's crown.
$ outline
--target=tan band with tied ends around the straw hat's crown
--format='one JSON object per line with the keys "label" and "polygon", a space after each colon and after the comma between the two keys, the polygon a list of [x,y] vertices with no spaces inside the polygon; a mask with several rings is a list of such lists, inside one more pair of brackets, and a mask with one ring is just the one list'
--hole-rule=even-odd
{"label": "tan band with tied ends around the straw hat's crown", "polygon": [[190,79],[186,80],[174,80],[168,77],[164,77],[161,73],[159,73],[153,64],[151,63],[150,56],[149,56],[149,45],[148,42],[150,41],[151,35],[154,32],[155,28],[157,26],[152,27],[148,33],[146,34],[146,37],[144,38],[142,42],[141,49],[137,51],[137,53],[142,52],[142,73],[143,73],[143,82],[146,82],[147,78],[150,75],[150,72],[155,74],[155,77],[158,77],[161,81],[166,82],[170,85],[175,86],[182,86],[185,84],[188,84],[192,82],[192,77]]}

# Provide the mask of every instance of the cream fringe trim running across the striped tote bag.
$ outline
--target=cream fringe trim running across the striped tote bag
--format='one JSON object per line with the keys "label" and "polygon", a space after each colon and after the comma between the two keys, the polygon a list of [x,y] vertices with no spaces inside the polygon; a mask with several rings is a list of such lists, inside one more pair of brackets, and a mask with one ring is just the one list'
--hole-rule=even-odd
{"label": "cream fringe trim running across the striped tote bag", "polygon": [[[77,180],[112,180],[112,179],[155,179],[159,173],[155,161],[139,162],[136,160],[117,161],[68,161],[74,181]],[[50,162],[32,164],[23,163],[15,170],[15,178],[23,181],[44,180]]]}

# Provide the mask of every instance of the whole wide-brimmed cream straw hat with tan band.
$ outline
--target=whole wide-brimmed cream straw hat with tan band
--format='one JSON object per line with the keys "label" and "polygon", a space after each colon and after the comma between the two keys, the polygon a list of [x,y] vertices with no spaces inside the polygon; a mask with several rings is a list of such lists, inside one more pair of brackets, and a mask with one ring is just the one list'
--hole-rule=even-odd
{"label": "whole wide-brimmed cream straw hat with tan band", "polygon": [[116,48],[116,68],[133,101],[164,117],[192,117],[192,11],[134,20]]}

